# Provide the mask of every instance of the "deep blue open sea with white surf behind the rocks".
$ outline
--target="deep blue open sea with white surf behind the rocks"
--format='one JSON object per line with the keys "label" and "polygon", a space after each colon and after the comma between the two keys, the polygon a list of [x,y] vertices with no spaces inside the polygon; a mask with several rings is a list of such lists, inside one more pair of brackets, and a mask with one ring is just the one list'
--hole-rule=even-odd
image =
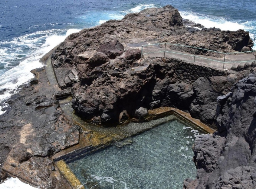
{"label": "deep blue open sea with white surf behind the rocks", "polygon": [[43,66],[39,59],[72,32],[167,4],[205,27],[244,29],[256,36],[255,0],[1,0],[0,90],[7,91],[0,95],[0,106],[33,78],[30,70]]}

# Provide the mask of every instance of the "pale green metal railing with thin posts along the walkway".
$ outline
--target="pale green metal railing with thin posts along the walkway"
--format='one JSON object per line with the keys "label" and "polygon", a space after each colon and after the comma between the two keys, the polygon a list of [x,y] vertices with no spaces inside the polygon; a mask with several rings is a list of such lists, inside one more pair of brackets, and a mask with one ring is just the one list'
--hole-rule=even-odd
{"label": "pale green metal railing with thin posts along the walkway", "polygon": [[[163,51],[154,51],[154,52],[143,52],[143,47],[148,47],[148,46],[152,46],[152,45],[159,45],[159,46],[160,45],[164,45],[164,50]],[[167,45],[174,45],[176,47],[192,48],[192,49],[194,49],[194,54],[184,54],[184,53],[181,53],[182,51],[179,51],[179,52],[167,51],[166,50],[166,46]],[[160,48],[162,48],[162,47],[160,47]],[[209,52],[212,52],[212,53],[224,55],[224,61],[219,61],[219,60],[214,60],[214,59],[210,59],[210,58],[204,58],[204,57],[201,57],[201,56],[197,56],[196,55],[196,50],[209,51]],[[198,48],[198,47],[191,47],[191,46],[187,46],[187,45],[171,44],[171,43],[158,43],[158,44],[142,45],[142,47],[141,47],[141,57],[142,57],[143,54],[152,54],[152,53],[160,53],[160,52],[164,52],[164,57],[165,57],[165,53],[168,52],[168,53],[173,53],[173,54],[193,56],[194,57],[194,62],[196,61],[196,58],[201,58],[201,59],[207,59],[207,60],[210,60],[210,61],[220,62],[220,63],[223,63],[223,68],[224,68],[224,64],[225,63],[236,63],[236,62],[254,61],[254,66],[255,66],[255,62],[256,62],[256,51],[255,50],[253,50],[253,51],[246,51],[246,52],[228,52],[228,53],[225,53],[225,52],[218,52],[218,51],[213,51],[213,50],[209,50],[209,49],[203,49],[203,48]],[[255,54],[253,54],[253,52],[255,52]],[[247,61],[229,61],[229,62],[225,62],[226,61],[226,55],[245,54],[245,53],[252,53],[255,56],[255,59],[254,60],[247,60]]]}

